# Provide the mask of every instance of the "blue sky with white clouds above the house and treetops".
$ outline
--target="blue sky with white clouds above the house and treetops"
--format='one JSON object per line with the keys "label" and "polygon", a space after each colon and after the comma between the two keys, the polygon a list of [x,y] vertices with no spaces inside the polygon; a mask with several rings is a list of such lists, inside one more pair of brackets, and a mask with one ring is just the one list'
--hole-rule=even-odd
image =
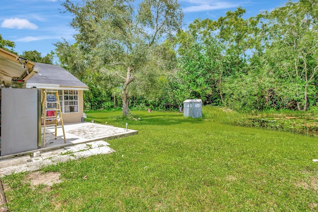
{"label": "blue sky with white clouds above the house and treetops", "polygon": [[[74,0],[74,2],[81,0]],[[245,18],[261,11],[283,6],[287,0],[179,0],[184,11],[185,26],[196,18],[217,20],[226,11],[238,6],[246,9]],[[0,34],[2,39],[14,41],[14,50],[36,50],[45,56],[55,50],[54,43],[66,39],[74,42],[76,31],[70,27],[72,16],[61,13],[59,0],[2,0],[0,7]]]}

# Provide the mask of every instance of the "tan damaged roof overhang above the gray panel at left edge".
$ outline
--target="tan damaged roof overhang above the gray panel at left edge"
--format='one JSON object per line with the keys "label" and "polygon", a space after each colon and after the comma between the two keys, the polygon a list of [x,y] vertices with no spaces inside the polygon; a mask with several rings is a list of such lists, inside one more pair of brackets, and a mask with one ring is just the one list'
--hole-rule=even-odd
{"label": "tan damaged roof overhang above the gray panel at left edge", "polygon": [[36,72],[35,63],[0,48],[0,80],[28,80]]}

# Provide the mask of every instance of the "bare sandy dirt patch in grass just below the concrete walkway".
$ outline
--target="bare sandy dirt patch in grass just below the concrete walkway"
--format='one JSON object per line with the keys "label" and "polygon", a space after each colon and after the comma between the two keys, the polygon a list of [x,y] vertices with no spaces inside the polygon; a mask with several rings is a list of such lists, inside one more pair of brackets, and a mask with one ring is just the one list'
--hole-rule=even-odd
{"label": "bare sandy dirt patch in grass just below the concrete walkway", "polygon": [[33,172],[30,173],[25,180],[30,180],[30,184],[33,186],[37,186],[40,184],[44,184],[47,186],[52,186],[54,183],[61,183],[60,180],[60,173],[59,172],[47,172],[47,173],[41,173],[41,172]]}

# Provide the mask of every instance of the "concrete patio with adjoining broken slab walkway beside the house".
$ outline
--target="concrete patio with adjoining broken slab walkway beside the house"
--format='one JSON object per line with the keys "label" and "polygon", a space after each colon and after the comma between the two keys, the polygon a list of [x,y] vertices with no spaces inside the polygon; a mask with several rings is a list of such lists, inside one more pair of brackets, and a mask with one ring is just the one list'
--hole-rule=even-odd
{"label": "concrete patio with adjoining broken slab walkway beside the house", "polygon": [[[64,142],[62,129],[57,130],[58,138],[55,139],[55,135],[53,135],[55,129],[46,128],[45,147],[0,156],[0,177],[11,173],[36,171],[51,164],[86,158],[91,155],[110,154],[115,150],[110,148],[108,146],[110,144],[103,140],[138,134],[138,131],[135,130],[88,122],[65,125],[64,129],[66,143]],[[37,151],[40,151],[40,156],[33,157],[33,153]]]}

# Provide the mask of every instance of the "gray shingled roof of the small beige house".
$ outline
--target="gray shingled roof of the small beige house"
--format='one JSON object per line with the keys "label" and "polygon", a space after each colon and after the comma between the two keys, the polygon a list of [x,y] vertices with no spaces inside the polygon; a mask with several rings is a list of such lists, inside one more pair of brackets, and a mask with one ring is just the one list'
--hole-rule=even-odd
{"label": "gray shingled roof of the small beige house", "polygon": [[28,79],[31,83],[59,84],[60,87],[77,87],[87,89],[88,86],[60,66],[36,63],[38,73]]}

